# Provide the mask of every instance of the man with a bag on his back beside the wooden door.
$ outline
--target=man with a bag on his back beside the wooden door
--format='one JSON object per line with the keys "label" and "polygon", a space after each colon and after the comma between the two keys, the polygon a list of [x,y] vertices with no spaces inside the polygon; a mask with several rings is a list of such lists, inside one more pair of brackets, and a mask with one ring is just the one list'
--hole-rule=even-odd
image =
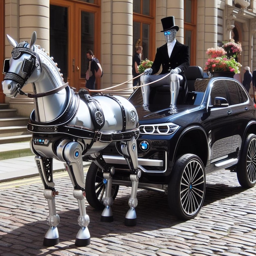
{"label": "man with a bag on his back beside the wooden door", "polygon": [[103,71],[99,60],[94,57],[92,50],[86,52],[86,57],[88,58],[88,69],[85,73],[85,87],[90,90],[95,90],[96,77],[101,77]]}

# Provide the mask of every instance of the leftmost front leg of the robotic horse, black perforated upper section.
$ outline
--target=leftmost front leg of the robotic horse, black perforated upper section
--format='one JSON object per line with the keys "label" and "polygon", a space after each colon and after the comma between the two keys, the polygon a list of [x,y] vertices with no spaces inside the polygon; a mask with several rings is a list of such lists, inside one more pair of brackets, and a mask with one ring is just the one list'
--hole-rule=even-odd
{"label": "leftmost front leg of the robotic horse, black perforated upper section", "polygon": [[47,224],[50,226],[45,238],[43,245],[49,247],[59,243],[59,234],[57,225],[60,222],[60,217],[56,214],[55,207],[55,195],[58,192],[54,189],[54,182],[52,181],[52,158],[41,157],[37,155],[35,157],[36,165],[38,168],[39,175],[45,187],[44,196],[48,202],[49,216],[47,216]]}

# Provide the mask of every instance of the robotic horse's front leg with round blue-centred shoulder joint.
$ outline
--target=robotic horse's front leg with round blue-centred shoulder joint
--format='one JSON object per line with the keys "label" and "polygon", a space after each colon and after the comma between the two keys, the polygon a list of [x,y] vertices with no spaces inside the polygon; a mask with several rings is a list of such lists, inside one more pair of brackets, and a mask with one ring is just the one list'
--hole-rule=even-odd
{"label": "robotic horse's front leg with round blue-centred shoulder joint", "polygon": [[63,162],[66,162],[64,165],[74,186],[73,196],[78,201],[80,213],[78,224],[81,228],[76,235],[75,245],[79,247],[90,245],[90,232],[87,227],[90,218],[86,214],[85,209],[85,180],[82,152],[81,144],[74,141],[67,141],[65,146],[61,145],[57,148],[58,157],[61,158],[61,156],[63,156]]}

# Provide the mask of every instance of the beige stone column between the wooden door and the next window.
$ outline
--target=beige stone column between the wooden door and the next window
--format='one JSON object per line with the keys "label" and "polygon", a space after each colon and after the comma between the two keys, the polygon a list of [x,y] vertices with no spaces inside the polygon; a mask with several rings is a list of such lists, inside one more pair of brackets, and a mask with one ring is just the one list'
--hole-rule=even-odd
{"label": "beige stone column between the wooden door and the next window", "polygon": [[[104,70],[102,87],[108,88],[132,79],[132,0],[102,1],[102,61]],[[128,97],[132,92],[132,81],[112,90],[130,88],[113,92]]]}

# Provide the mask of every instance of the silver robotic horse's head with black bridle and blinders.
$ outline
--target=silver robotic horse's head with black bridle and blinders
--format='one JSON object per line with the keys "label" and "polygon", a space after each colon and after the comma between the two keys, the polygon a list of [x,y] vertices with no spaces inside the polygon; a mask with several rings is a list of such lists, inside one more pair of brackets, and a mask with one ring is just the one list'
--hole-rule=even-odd
{"label": "silver robotic horse's head with black bridle and blinders", "polygon": [[33,83],[40,76],[41,68],[37,54],[36,32],[31,36],[30,44],[27,41],[17,43],[7,35],[9,44],[13,47],[12,57],[4,60],[2,89],[8,97],[15,98],[17,93],[27,83]]}

